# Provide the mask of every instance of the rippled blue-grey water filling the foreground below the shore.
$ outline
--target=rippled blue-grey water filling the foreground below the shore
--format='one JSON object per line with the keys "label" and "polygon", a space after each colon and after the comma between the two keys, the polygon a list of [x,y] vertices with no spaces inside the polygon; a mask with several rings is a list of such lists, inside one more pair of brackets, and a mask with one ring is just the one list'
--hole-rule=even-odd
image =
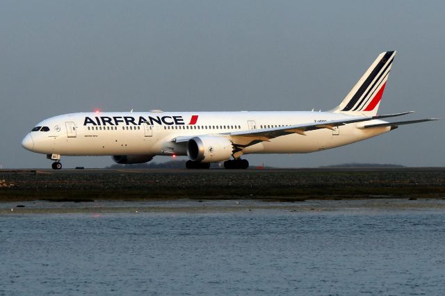
{"label": "rippled blue-grey water filling the foreground below the shore", "polygon": [[445,295],[444,213],[0,215],[0,295]]}

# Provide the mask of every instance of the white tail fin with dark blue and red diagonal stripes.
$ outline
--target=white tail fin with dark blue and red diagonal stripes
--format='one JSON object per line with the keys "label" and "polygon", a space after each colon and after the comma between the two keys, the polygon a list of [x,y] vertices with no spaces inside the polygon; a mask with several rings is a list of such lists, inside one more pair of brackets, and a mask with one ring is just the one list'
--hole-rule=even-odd
{"label": "white tail fin with dark blue and red diagonal stripes", "polygon": [[373,116],[377,114],[396,51],[382,52],[357,81],[334,113]]}

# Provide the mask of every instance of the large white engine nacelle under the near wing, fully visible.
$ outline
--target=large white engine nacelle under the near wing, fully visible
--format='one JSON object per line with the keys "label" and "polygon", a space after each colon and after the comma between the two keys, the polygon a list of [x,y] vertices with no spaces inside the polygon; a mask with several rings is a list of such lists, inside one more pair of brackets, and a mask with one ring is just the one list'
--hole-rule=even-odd
{"label": "large white engine nacelle under the near wing, fully visible", "polygon": [[201,163],[227,161],[232,156],[233,149],[234,147],[230,140],[211,135],[194,137],[187,142],[188,158]]}

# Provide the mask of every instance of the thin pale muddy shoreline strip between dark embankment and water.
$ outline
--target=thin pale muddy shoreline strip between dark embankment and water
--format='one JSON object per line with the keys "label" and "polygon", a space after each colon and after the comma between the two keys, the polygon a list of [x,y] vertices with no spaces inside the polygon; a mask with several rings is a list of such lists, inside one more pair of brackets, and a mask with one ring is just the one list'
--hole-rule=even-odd
{"label": "thin pale muddy shoreline strip between dark embankment and water", "polygon": [[97,202],[0,202],[0,216],[22,214],[101,214],[101,213],[251,213],[259,211],[280,212],[394,212],[438,211],[444,213],[445,199],[348,199],[310,200],[306,202],[277,202],[265,200],[194,200],[131,202],[102,200]]}

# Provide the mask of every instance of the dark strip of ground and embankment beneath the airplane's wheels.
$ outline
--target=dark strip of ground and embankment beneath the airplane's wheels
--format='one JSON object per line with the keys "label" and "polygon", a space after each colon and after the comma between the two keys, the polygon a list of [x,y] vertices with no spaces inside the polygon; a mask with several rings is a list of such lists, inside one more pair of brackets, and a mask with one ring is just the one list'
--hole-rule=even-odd
{"label": "dark strip of ground and embankment beneath the airplane's wheels", "polygon": [[0,170],[0,201],[445,198],[445,168]]}

